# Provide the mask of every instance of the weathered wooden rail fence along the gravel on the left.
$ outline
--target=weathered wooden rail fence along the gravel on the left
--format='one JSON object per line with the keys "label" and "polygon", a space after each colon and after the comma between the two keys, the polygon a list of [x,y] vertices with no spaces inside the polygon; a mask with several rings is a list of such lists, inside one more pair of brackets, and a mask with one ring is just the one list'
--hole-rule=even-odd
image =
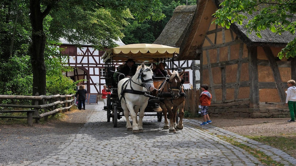
{"label": "weathered wooden rail fence along the gravel on the left", "polygon": [[[20,104],[0,104],[0,107],[4,107],[3,110],[0,110],[0,118],[18,118],[26,119],[29,126],[33,126],[33,119],[36,120],[36,123],[39,123],[41,118],[44,118],[47,121],[49,115],[55,115],[57,112],[64,111],[67,112],[74,105],[74,96],[72,95],[38,95],[36,96],[21,96],[21,95],[0,95],[0,100],[10,99],[10,100],[30,100],[32,101],[31,105],[20,105]],[[14,103],[14,102],[12,102]],[[39,103],[42,103],[39,105]],[[8,110],[7,107],[13,108],[28,108],[29,110]],[[39,109],[44,109],[44,113],[39,115]],[[2,115],[2,113],[7,112],[27,112],[27,116],[10,116]]]}

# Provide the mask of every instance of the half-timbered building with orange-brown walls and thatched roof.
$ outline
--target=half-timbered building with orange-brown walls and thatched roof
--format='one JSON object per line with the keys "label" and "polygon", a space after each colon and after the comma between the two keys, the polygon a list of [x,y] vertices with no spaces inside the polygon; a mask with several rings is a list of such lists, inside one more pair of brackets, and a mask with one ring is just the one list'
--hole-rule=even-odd
{"label": "half-timbered building with orange-brown walls and thatched roof", "polygon": [[286,82],[296,79],[296,60],[277,54],[295,36],[264,30],[259,38],[247,35],[243,25],[211,24],[220,3],[198,0],[179,44],[179,59],[201,62],[201,84],[209,84],[212,93],[211,116],[289,117],[285,90]]}

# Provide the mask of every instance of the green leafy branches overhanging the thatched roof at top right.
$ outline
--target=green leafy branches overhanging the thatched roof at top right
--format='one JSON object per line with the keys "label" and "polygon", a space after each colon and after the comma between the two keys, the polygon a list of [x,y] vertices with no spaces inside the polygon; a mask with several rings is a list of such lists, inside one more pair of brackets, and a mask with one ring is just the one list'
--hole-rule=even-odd
{"label": "green leafy branches overhanging the thatched roof at top right", "polygon": [[[225,0],[221,8],[213,14],[217,19],[215,24],[225,26],[237,22],[243,24],[243,20],[252,15],[244,26],[248,33],[255,32],[261,37],[260,31],[270,29],[272,32],[281,34],[288,31],[295,34],[296,28],[296,0]],[[278,54],[282,59],[296,56],[296,38],[290,41]]]}

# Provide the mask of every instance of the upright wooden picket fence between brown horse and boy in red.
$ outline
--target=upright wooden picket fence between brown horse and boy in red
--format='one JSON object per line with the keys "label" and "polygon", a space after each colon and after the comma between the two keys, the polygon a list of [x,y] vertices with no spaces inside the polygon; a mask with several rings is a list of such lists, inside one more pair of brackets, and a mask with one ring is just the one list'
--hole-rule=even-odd
{"label": "upright wooden picket fence between brown horse and boy in red", "polygon": [[199,90],[196,89],[185,89],[187,97],[185,98],[184,111],[188,111],[192,114],[198,113],[199,105]]}

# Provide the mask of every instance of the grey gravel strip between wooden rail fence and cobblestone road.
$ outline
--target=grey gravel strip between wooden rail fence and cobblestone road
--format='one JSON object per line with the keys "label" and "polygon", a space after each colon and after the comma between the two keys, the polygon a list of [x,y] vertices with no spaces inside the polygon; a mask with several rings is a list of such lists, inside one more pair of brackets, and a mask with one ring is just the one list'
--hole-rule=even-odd
{"label": "grey gravel strip between wooden rail fence and cobblestone road", "polygon": [[33,127],[0,125],[0,166],[43,159],[56,151],[71,134],[77,133],[90,113],[87,110],[66,112],[61,121],[34,123]]}

